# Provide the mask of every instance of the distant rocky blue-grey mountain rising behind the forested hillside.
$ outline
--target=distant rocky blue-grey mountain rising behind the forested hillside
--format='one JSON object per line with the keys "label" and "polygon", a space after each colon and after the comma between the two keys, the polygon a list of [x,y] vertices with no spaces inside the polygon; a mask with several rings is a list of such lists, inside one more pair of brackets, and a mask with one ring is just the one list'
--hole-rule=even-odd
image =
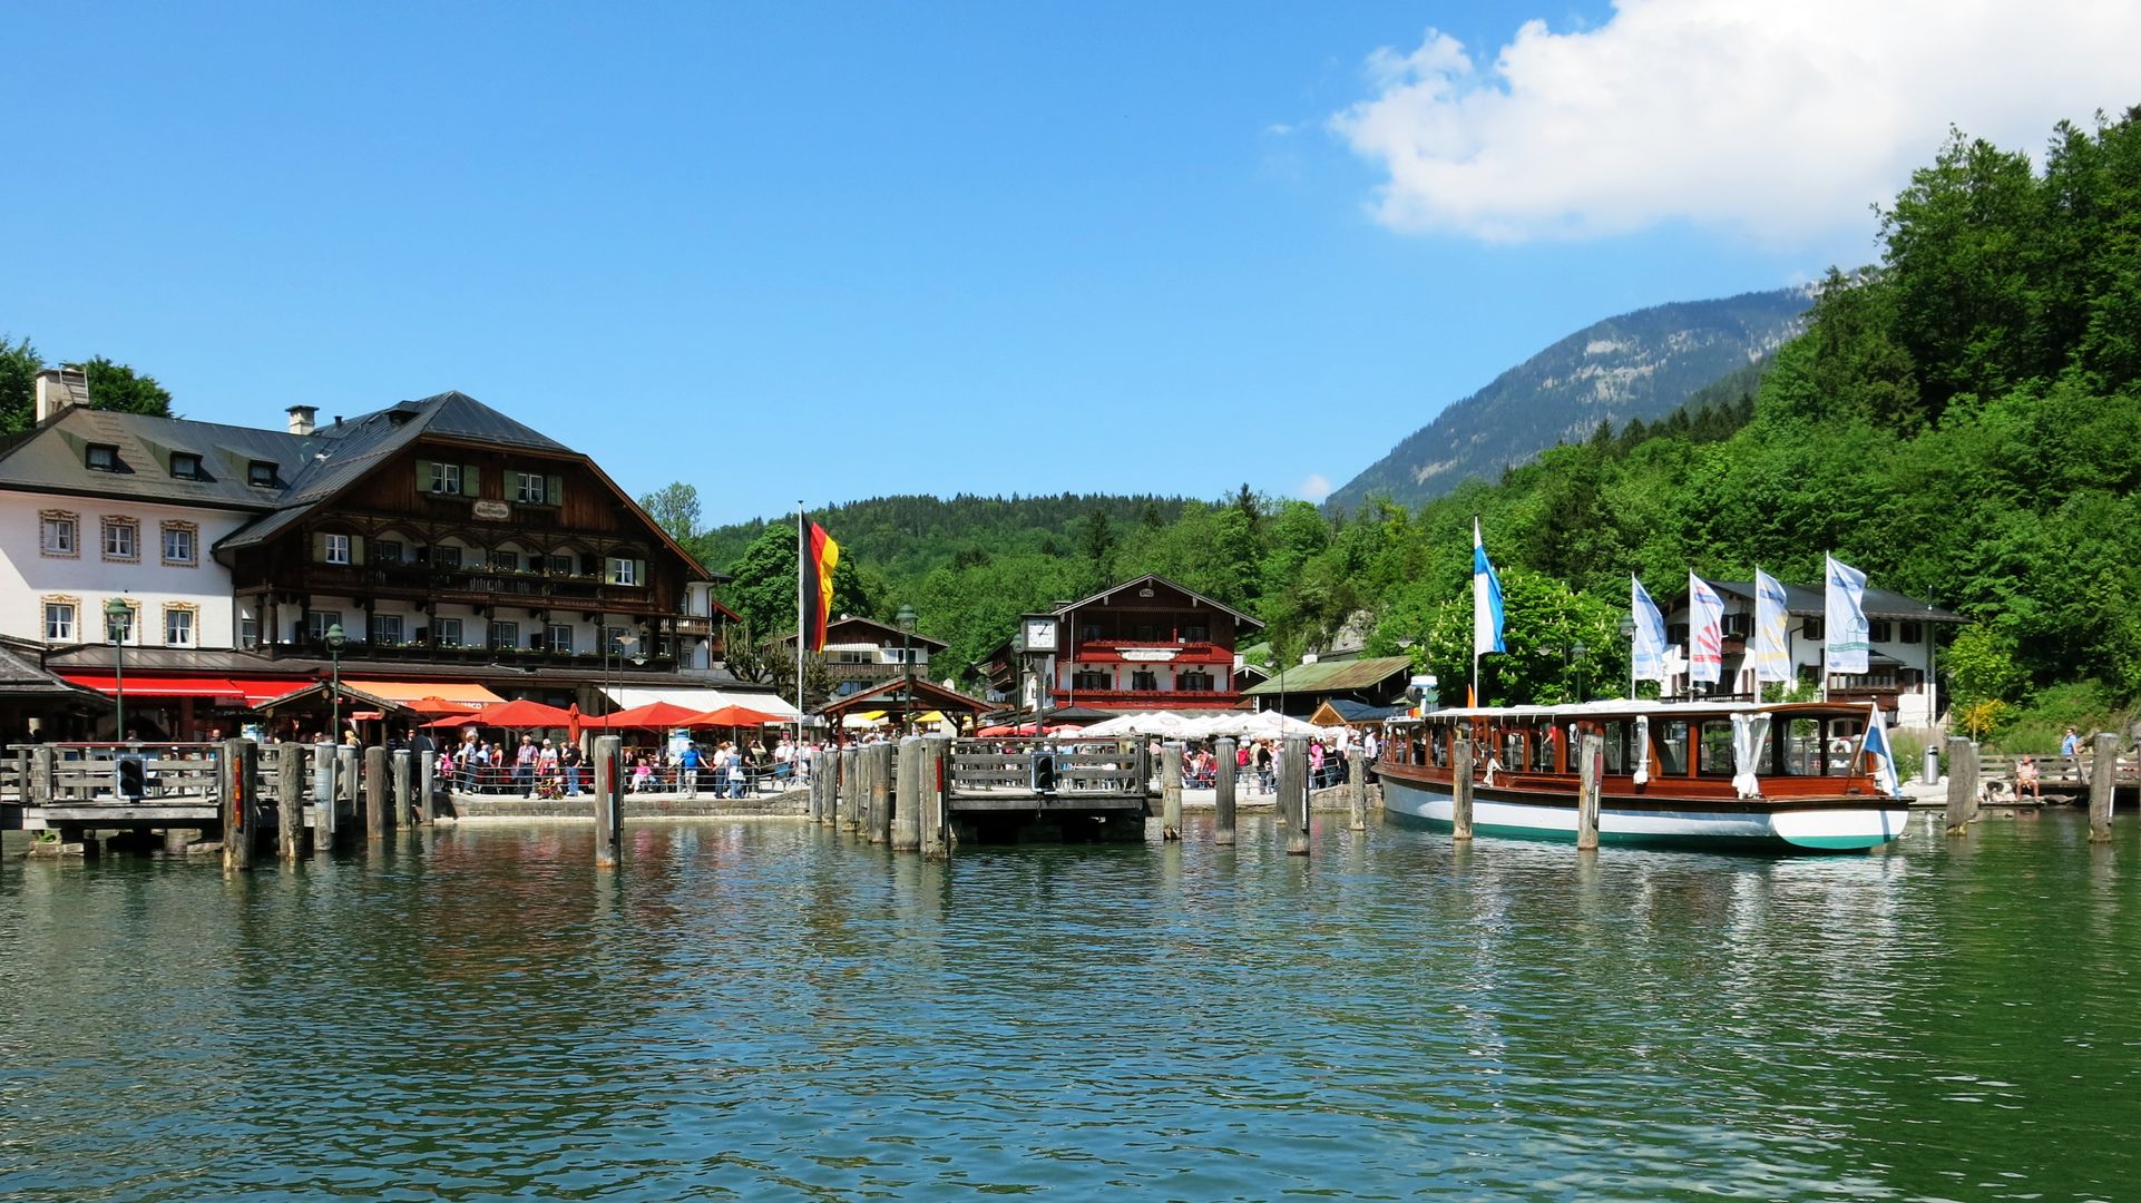
{"label": "distant rocky blue-grey mountain rising behind the forested hillside", "polygon": [[1798,334],[1811,304],[1813,289],[1798,287],[1661,304],[1586,325],[1437,413],[1327,505],[1353,509],[1368,497],[1419,505],[1554,443],[1580,443],[1599,422],[1619,428],[1631,417],[1666,417],[1696,390]]}

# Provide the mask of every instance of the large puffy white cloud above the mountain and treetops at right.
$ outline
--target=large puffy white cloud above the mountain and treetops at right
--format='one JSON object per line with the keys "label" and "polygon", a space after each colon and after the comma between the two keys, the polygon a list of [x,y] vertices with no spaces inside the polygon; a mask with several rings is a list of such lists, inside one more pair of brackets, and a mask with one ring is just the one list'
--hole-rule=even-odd
{"label": "large puffy white cloud above the mountain and treetops at right", "polygon": [[1330,120],[1390,180],[1375,216],[1490,242],[1691,220],[1792,240],[1867,220],[1950,124],[2040,150],[2141,101],[2132,0],[1621,0],[1492,62],[1428,30]]}

